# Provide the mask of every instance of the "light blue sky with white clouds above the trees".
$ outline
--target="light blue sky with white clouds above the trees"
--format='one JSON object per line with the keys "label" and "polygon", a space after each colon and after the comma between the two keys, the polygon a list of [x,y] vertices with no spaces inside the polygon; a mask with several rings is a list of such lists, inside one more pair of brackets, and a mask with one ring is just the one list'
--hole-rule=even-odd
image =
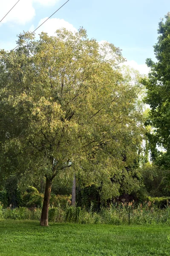
{"label": "light blue sky with white clouds above the trees", "polygon": [[[16,2],[3,0],[0,20]],[[36,29],[65,2],[20,0],[0,23],[0,49],[13,49],[18,34]],[[170,0],[69,0],[37,30],[37,35],[42,31],[55,35],[61,27],[75,31],[83,26],[89,38],[119,47],[128,65],[147,74],[146,58],[155,60],[158,23],[169,11]]]}

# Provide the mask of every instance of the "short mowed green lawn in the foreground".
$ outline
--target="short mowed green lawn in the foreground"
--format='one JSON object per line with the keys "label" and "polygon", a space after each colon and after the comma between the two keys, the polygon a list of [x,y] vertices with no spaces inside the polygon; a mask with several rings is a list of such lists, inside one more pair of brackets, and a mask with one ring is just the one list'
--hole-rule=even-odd
{"label": "short mowed green lawn in the foreground", "polygon": [[170,256],[167,226],[0,221],[0,256]]}

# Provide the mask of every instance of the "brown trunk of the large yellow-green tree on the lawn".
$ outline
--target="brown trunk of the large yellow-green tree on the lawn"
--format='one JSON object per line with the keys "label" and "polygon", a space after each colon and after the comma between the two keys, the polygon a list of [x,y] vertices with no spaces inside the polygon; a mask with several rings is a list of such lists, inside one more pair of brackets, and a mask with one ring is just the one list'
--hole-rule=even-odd
{"label": "brown trunk of the large yellow-green tree on the lawn", "polygon": [[48,215],[49,215],[49,199],[51,195],[51,189],[52,189],[52,179],[46,178],[46,189],[45,189],[44,199],[43,199],[43,209],[41,212],[40,226],[47,227],[49,225]]}

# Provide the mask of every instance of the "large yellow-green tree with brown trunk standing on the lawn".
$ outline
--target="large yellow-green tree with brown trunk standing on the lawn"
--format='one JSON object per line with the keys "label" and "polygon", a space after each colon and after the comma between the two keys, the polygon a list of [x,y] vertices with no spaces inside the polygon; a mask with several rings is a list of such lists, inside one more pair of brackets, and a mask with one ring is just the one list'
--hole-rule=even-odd
{"label": "large yellow-green tree with brown trunk standing on the lawn", "polygon": [[40,225],[47,226],[56,175],[78,173],[88,185],[102,180],[105,198],[118,194],[142,139],[139,83],[122,76],[119,48],[100,46],[84,29],[42,33],[39,41],[27,32],[17,43],[0,52],[2,148],[14,152],[22,177],[46,177]]}

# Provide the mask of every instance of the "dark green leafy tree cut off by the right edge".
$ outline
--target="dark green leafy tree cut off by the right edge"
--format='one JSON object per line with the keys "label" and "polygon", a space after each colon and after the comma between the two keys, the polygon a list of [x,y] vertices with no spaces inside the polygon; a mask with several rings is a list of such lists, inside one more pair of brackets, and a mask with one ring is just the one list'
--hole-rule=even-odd
{"label": "dark green leafy tree cut off by the right edge", "polygon": [[158,148],[163,145],[166,154],[164,165],[170,167],[170,13],[165,15],[158,25],[158,42],[154,46],[156,62],[147,59],[150,67],[149,79],[146,82],[146,102],[150,105],[150,124],[152,132],[148,134],[153,160],[158,159]]}

